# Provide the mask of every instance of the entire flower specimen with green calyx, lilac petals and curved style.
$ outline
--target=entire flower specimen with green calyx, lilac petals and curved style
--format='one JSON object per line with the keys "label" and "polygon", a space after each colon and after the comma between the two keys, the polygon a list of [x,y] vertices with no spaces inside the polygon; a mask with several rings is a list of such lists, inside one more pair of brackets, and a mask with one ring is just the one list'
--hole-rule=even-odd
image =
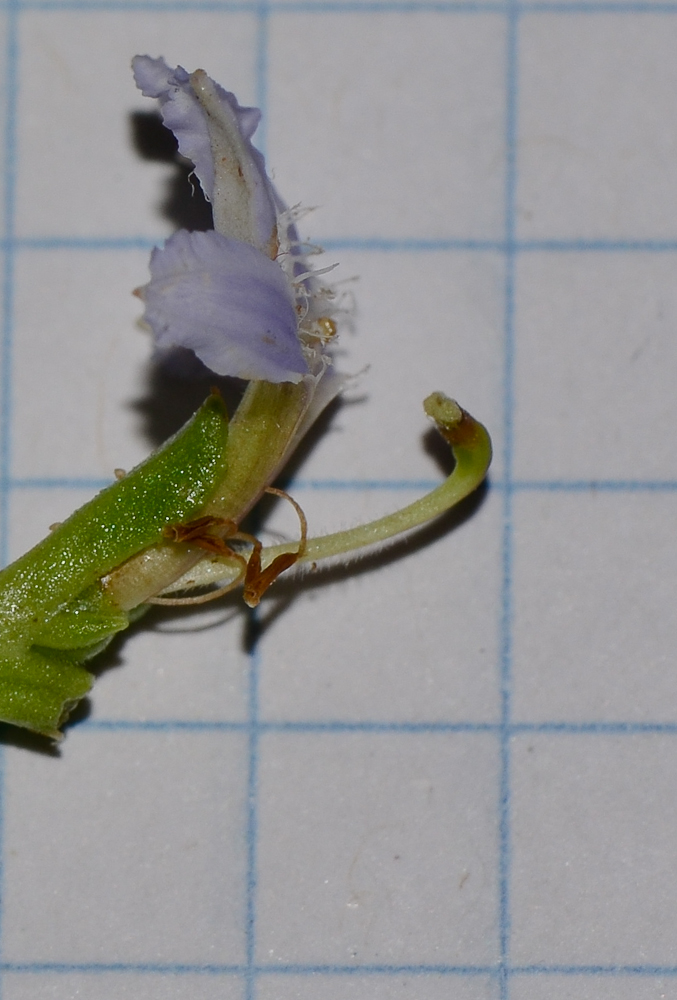
{"label": "entire flower specimen with green calyx, lilac petals and curved style", "polygon": [[[251,139],[255,108],[203,70],[137,56],[211,202],[214,229],[180,230],[151,255],[139,289],[157,352],[192,351],[247,387],[229,419],[213,392],[173,438],[0,573],[0,719],[52,738],[89,691],[88,662],[153,603],[212,600],[242,587],[255,606],[281,573],[411,531],[482,482],[489,436],[441,393],[426,413],[452,448],[451,475],[422,499],[347,531],[308,537],[272,484],[346,379],[333,367],[337,310]],[[300,541],[264,547],[242,531],[264,493],[293,504]]]}

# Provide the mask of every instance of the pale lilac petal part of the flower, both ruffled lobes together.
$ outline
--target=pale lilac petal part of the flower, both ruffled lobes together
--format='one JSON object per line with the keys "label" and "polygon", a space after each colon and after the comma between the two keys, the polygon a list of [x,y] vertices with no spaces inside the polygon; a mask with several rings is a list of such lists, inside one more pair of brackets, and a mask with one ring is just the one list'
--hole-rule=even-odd
{"label": "pale lilac petal part of the flower, both ruffled lobes together", "polygon": [[189,348],[219,375],[319,383],[335,330],[330,295],[301,255],[293,212],[251,144],[260,112],[241,108],[203,70],[189,75],[149,56],[136,56],[133,68],[214,212],[214,231],[181,230],[153,251],[140,294],[157,346]]}

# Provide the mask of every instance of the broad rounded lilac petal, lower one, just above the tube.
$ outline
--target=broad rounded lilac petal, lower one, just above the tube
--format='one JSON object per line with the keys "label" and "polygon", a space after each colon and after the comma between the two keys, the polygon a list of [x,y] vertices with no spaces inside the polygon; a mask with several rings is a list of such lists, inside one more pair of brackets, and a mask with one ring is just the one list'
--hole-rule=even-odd
{"label": "broad rounded lilac petal, lower one, just above the tube", "polygon": [[218,375],[298,382],[308,365],[291,287],[260,250],[182,229],[154,250],[144,320],[159,348],[188,347]]}

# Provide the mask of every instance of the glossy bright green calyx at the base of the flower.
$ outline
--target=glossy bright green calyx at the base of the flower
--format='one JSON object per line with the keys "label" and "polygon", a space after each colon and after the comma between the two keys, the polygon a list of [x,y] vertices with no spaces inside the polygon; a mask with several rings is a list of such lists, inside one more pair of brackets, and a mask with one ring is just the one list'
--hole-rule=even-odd
{"label": "glossy bright green calyx at the base of the flower", "polygon": [[129,624],[102,577],[199,512],[224,477],[227,432],[211,396],[164,447],[0,573],[0,719],[59,736],[92,684],[82,664]]}

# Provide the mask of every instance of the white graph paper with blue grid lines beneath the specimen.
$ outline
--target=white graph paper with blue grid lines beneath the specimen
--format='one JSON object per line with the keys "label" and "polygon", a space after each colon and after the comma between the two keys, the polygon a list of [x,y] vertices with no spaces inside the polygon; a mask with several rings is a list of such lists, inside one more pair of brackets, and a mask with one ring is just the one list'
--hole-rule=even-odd
{"label": "white graph paper with blue grid lines beneath the specimen", "polygon": [[259,104],[359,276],[313,532],[439,480],[433,389],[496,445],[403,558],[151,616],[60,755],[5,734],[2,1000],[675,1000],[677,4],[1,11],[6,558],[183,416],[135,52]]}

